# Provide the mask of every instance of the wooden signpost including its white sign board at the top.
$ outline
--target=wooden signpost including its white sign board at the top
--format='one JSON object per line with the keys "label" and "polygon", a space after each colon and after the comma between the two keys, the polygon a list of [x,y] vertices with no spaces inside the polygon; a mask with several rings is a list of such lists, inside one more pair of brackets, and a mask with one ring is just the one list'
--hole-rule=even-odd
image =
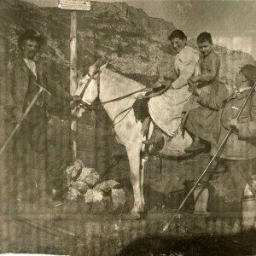
{"label": "wooden signpost including its white sign board at the top", "polygon": [[[88,0],[59,0],[59,9],[71,10],[70,27],[70,94],[73,96],[78,88],[78,70],[77,70],[77,10],[90,10],[90,1]],[[73,138],[73,160],[77,159],[77,119],[71,120],[71,130]]]}

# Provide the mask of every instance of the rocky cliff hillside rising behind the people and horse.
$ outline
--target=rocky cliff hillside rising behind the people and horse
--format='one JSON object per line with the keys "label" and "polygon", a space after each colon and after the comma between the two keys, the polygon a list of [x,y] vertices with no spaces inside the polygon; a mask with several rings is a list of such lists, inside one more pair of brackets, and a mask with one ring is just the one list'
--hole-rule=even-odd
{"label": "rocky cliff hillside rising behind the people and horse", "polygon": [[[70,11],[0,0],[0,20],[2,64],[18,55],[18,35],[26,28],[36,29],[47,39],[41,57],[49,75],[68,87]],[[157,67],[160,75],[174,77],[174,53],[166,39],[173,29],[172,22],[151,18],[126,3],[91,2],[90,11],[78,12],[79,74],[104,55],[113,70],[147,85],[154,82]],[[194,41],[189,44],[195,46]],[[233,79],[238,67],[253,62],[242,52],[218,46],[216,51],[222,60],[222,77]]]}

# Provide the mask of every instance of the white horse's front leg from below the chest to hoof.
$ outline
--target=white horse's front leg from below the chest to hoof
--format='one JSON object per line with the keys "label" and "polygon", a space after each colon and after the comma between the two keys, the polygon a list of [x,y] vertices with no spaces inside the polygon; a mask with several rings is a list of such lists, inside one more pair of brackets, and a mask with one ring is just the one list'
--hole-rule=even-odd
{"label": "white horse's front leg from below the chest to hoof", "polygon": [[133,189],[134,206],[131,213],[139,217],[140,212],[144,212],[144,199],[142,189],[142,177],[141,177],[141,143],[132,143],[126,145],[126,151],[129,159],[131,170],[131,185]]}

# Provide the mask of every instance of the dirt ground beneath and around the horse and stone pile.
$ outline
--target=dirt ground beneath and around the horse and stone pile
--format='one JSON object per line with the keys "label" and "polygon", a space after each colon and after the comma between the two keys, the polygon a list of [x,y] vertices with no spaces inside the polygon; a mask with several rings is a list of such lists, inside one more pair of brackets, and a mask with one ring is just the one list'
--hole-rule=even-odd
{"label": "dirt ground beneath and around the horse and stone pile", "polygon": [[[144,182],[148,215],[145,219],[131,220],[128,213],[133,204],[133,195],[128,160],[124,148],[115,142],[108,117],[103,112],[96,115],[87,113],[79,121],[78,157],[83,160],[84,166],[95,167],[102,181],[114,179],[121,183],[126,195],[123,212],[85,206],[83,201],[65,200],[65,168],[72,162],[68,122],[54,118],[49,125],[48,136],[49,190],[62,189],[61,205],[42,209],[36,202],[30,202],[21,210],[16,208],[15,198],[9,193],[11,188],[4,182],[9,174],[2,166],[1,253],[117,255],[124,247],[136,242],[137,238],[160,234],[183,200],[183,183],[199,177],[209,160],[209,156],[204,153],[188,160],[164,159],[160,172],[159,159],[151,157],[146,163]],[[208,188],[208,211],[211,215],[204,217],[191,214],[188,212],[191,206],[187,206],[171,224],[168,236],[195,238],[205,234],[209,237],[240,234],[241,203],[235,196],[229,174],[218,173]],[[158,253],[129,255],[204,254],[164,254],[159,250]]]}

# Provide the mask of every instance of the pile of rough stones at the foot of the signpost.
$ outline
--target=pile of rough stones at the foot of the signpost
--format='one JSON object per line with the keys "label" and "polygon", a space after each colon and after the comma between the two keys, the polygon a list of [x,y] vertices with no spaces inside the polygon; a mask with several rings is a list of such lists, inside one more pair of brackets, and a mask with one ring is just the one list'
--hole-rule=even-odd
{"label": "pile of rough stones at the foot of the signpost", "polygon": [[123,210],[125,207],[125,192],[120,183],[114,180],[100,182],[100,176],[94,168],[84,167],[81,160],[76,160],[73,166],[67,167],[67,200],[79,201],[85,204],[97,205],[102,209],[111,207],[113,210]]}

